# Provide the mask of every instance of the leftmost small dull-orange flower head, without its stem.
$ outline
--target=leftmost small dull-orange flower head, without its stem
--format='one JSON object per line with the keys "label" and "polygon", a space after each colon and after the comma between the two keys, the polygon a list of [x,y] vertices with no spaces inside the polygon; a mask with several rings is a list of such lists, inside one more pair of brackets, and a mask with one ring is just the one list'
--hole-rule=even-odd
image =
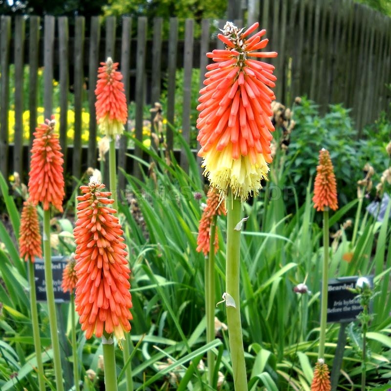
{"label": "leftmost small dull-orange flower head, without its stem", "polygon": [[34,262],[35,257],[42,258],[41,234],[38,213],[31,201],[23,203],[19,238],[20,255],[24,261]]}

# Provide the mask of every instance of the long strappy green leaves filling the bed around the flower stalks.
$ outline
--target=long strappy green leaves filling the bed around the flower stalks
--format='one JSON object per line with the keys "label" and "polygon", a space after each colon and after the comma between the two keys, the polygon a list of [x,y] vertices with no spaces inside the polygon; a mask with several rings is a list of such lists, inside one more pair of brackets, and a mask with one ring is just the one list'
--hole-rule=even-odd
{"label": "long strappy green leaves filling the bed around the flower stalks", "polygon": [[[338,114],[326,121],[317,116],[316,109],[311,107],[305,108],[307,112],[313,110],[313,113],[302,121],[304,132],[309,131],[309,124],[314,118],[330,127],[333,124],[336,129],[345,123],[346,130],[341,132],[347,134],[350,131],[343,109],[335,109]],[[297,129],[294,132],[298,132]],[[322,131],[321,127],[317,129]],[[222,328],[217,338],[205,345],[204,257],[195,250],[205,198],[196,200],[193,197],[194,192],[203,193],[204,183],[195,154],[179,132],[175,137],[185,149],[189,173],[180,168],[173,155],[166,156],[163,151],[154,151],[139,143],[148,154],[149,161],[135,156],[132,158],[145,174],[140,180],[124,173],[128,184],[118,198],[119,217],[132,271],[130,351],[134,389],[157,391],[171,387],[177,390],[207,390],[207,372],[200,360],[204,360],[207,351],[211,350],[217,358],[217,371],[225,378],[221,390],[228,391],[232,390],[232,368],[226,330]],[[335,138],[333,140],[343,151],[343,146]],[[314,152],[307,150],[308,155],[313,153],[317,156],[318,148],[314,147]],[[270,180],[258,197],[243,204],[244,215],[249,218],[243,224],[240,238],[241,319],[247,374],[250,389],[254,391],[309,390],[313,364],[317,359],[322,230],[317,218],[319,214],[311,201],[311,181],[304,185],[304,196],[291,191],[291,188],[284,188],[291,183],[290,167],[293,164],[289,154],[277,151],[271,165]],[[305,174],[303,167],[294,167],[296,170],[301,168],[301,173]],[[17,230],[17,208],[12,197],[5,196],[7,187],[3,179],[0,185]],[[287,211],[289,200],[293,207]],[[357,208],[355,197],[348,201],[330,215],[330,227],[339,227]],[[330,276],[354,276],[360,272],[374,275],[378,294],[372,303],[375,316],[368,325],[367,343],[371,355],[366,363],[366,378],[372,388],[386,383],[391,369],[390,208],[383,222],[375,221],[368,214],[359,216],[354,222],[357,226],[354,243],[348,239],[348,232],[341,228],[340,235],[330,246]],[[57,220],[55,226],[62,232],[58,251],[70,253],[74,244],[67,241],[69,238],[65,232],[71,231],[73,221],[67,220],[66,216]],[[219,217],[217,225],[216,303],[225,291],[226,218]],[[331,233],[335,233],[334,228]],[[24,264],[18,257],[18,249],[11,236],[5,229],[0,230],[0,240],[6,243],[0,251],[0,301],[3,303],[0,316],[0,388],[22,390],[22,387],[28,388],[29,384],[36,383],[36,374],[32,370],[35,355],[28,297],[23,290],[26,278],[21,265]],[[350,262],[343,259],[347,252],[353,254]],[[308,286],[308,293],[294,292],[293,288],[301,282]],[[68,310],[67,304],[63,305],[63,309]],[[45,305],[40,304],[39,313],[45,349],[43,357],[46,359],[51,351]],[[215,315],[226,323],[223,304],[217,306]],[[66,330],[67,333],[70,330],[69,323]],[[325,359],[331,370],[338,330],[338,325],[331,324],[326,334]],[[88,369],[99,372],[97,365],[102,344],[95,338],[86,341],[79,325],[77,335],[77,354],[84,378]],[[360,349],[355,349],[359,337],[357,330],[349,335],[343,358],[347,377],[340,378],[341,389],[359,389],[362,359]],[[118,349],[116,361],[119,374],[123,358]],[[50,386],[53,383],[52,368],[48,359],[45,375]],[[15,372],[17,377],[13,375]],[[120,390],[124,389],[124,382],[121,377]],[[98,380],[95,383],[86,380],[85,388],[97,390]]]}

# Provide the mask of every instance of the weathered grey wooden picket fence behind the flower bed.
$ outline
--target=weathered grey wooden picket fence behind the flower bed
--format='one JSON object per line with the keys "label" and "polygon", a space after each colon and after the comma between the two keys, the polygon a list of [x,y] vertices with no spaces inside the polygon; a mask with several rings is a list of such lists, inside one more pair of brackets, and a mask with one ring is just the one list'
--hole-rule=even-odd
{"label": "weathered grey wooden picket fence behind the flower bed", "polygon": [[[263,0],[259,10],[262,28],[270,42],[268,50],[279,52],[271,63],[278,81],[277,100],[291,105],[296,96],[307,95],[323,110],[331,103],[343,103],[352,109],[358,129],[372,123],[382,110],[390,112],[391,19],[352,0]],[[249,16],[245,25],[251,22]],[[69,34],[72,22],[73,34]],[[243,25],[241,21],[235,21]],[[86,23],[87,29],[86,29]],[[150,23],[150,24],[149,24]],[[180,24],[182,23],[182,24]],[[163,20],[146,18],[22,16],[0,18],[0,170],[8,176],[13,171],[28,170],[27,151],[22,143],[23,88],[28,86],[30,136],[37,125],[38,97],[43,97],[44,117],[53,111],[53,79],[60,87],[60,141],[65,151],[68,173],[76,178],[87,167],[97,166],[94,86],[99,63],[111,57],[120,63],[128,100],[135,102],[135,136],[142,139],[143,108],[157,102],[162,81],[167,81],[167,122],[174,123],[175,73],[183,68],[182,135],[190,140],[192,69],[200,68],[199,84],[208,60],[207,51],[222,47],[216,42],[216,24],[225,21],[203,20],[200,36],[194,38],[195,21],[169,21],[168,36],[163,36]],[[179,39],[178,26],[183,39]],[[198,27],[198,26],[197,26]],[[87,31],[87,34],[86,34]],[[147,38],[151,37],[151,38]],[[15,65],[15,89],[10,91],[9,69]],[[28,78],[24,65],[29,65]],[[43,88],[38,87],[38,71],[43,66]],[[87,90],[86,90],[87,80]],[[68,101],[69,86],[73,101]],[[23,87],[24,86],[24,87]],[[10,94],[15,102],[14,143],[8,142]],[[85,101],[86,100],[86,101]],[[66,145],[66,113],[69,105],[75,113],[73,145]],[[88,147],[81,141],[82,107],[90,113]],[[356,135],[352,135],[354,137]],[[31,143],[30,137],[30,143]],[[118,165],[137,174],[138,165],[127,156],[127,139],[119,143]],[[173,132],[167,127],[167,145],[173,148]],[[134,154],[141,156],[135,148]],[[186,169],[184,152],[179,152]]]}

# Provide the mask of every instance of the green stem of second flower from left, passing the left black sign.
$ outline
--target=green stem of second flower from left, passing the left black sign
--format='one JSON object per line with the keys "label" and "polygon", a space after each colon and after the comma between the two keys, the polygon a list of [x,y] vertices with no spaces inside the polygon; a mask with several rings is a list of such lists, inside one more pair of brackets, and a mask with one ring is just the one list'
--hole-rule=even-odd
{"label": "green stem of second flower from left, passing the left black sign", "polygon": [[43,258],[45,267],[46,301],[49,312],[50,337],[53,348],[54,374],[56,377],[56,390],[64,391],[63,369],[61,367],[60,342],[57,334],[57,316],[54,303],[52,259],[50,248],[50,210],[43,211]]}

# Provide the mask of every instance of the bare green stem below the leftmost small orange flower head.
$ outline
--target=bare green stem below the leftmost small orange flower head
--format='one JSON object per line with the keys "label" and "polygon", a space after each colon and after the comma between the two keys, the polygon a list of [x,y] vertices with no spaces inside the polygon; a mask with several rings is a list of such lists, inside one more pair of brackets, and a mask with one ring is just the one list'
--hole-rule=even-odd
{"label": "bare green stem below the leftmost small orange flower head", "polygon": [[28,261],[28,280],[30,282],[31,320],[33,324],[34,348],[37,357],[37,374],[40,391],[45,391],[45,378],[43,372],[40,325],[38,321],[37,295],[35,293],[34,263]]}

